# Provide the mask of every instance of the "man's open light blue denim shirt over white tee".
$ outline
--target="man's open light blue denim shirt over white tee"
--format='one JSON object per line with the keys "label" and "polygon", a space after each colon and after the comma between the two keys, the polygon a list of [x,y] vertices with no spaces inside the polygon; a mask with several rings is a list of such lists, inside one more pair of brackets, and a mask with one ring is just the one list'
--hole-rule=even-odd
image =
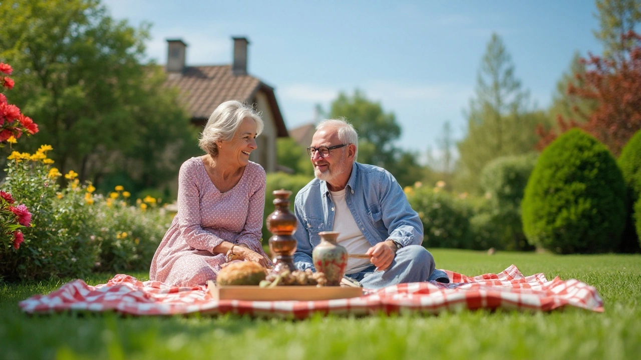
{"label": "man's open light blue denim shirt over white tee", "polygon": [[[345,202],[365,239],[374,246],[391,239],[403,247],[420,245],[423,224],[412,209],[401,186],[384,168],[354,162],[345,187]],[[298,247],[294,264],[313,270],[312,250],[320,243],[319,233],[334,226],[334,203],[326,181],[313,179],[296,195],[294,213]]]}

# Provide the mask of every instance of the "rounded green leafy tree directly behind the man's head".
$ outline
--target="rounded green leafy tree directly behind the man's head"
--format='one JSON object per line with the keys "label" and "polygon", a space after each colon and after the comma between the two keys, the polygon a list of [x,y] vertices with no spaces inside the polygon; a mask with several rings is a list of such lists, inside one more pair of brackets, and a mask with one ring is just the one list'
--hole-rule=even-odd
{"label": "rounded green leafy tree directly behind the man's head", "polygon": [[338,94],[330,106],[329,118],[349,120],[358,132],[358,161],[383,167],[391,172],[401,186],[422,179],[424,168],[417,154],[394,146],[401,136],[401,127],[394,113],[385,113],[379,102],[370,101],[356,89],[354,95]]}

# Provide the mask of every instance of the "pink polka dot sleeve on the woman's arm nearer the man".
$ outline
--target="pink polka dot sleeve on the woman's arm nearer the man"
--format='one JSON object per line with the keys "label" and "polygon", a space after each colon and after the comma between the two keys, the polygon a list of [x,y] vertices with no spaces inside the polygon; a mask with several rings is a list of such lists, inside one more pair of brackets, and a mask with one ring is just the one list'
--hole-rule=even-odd
{"label": "pink polka dot sleeve on the woman's arm nearer the man", "polygon": [[252,174],[251,182],[255,185],[254,192],[249,198],[249,209],[247,209],[247,220],[242,231],[238,234],[237,243],[244,243],[249,249],[265,254],[258,239],[262,237],[263,212],[265,211],[265,170],[260,165],[256,166]]}

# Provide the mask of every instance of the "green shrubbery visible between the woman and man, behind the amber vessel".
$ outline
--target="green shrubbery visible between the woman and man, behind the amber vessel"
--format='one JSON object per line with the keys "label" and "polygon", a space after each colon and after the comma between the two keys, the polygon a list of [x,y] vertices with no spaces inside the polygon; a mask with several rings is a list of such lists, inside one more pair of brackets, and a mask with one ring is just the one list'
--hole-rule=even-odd
{"label": "green shrubbery visible between the woman and man, behind the amber vessel", "polygon": [[272,192],[274,190],[280,190],[280,189],[285,189],[289,190],[292,192],[292,195],[290,195],[289,200],[289,209],[294,212],[294,199],[296,198],[296,194],[304,188],[304,186],[312,181],[313,176],[307,176],[307,175],[290,175],[290,174],[285,174],[284,172],[276,172],[276,173],[271,173],[267,174],[267,188],[265,189],[265,213],[264,213],[264,218],[263,218],[263,248],[265,248],[265,251],[267,254],[269,254],[268,250],[268,243],[267,241],[269,238],[271,238],[272,234],[267,231],[267,222],[264,221],[267,219],[267,216],[274,212],[274,195],[272,195]]}

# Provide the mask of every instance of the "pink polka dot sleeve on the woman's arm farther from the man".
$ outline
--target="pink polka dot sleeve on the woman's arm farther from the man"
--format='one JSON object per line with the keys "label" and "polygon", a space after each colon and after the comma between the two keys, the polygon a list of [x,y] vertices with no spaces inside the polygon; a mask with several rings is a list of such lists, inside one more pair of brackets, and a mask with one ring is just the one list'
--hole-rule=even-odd
{"label": "pink polka dot sleeve on the woman's arm farther from the man", "polygon": [[186,161],[178,173],[179,228],[185,242],[197,250],[208,250],[222,243],[222,239],[201,227],[200,188],[196,161]]}

